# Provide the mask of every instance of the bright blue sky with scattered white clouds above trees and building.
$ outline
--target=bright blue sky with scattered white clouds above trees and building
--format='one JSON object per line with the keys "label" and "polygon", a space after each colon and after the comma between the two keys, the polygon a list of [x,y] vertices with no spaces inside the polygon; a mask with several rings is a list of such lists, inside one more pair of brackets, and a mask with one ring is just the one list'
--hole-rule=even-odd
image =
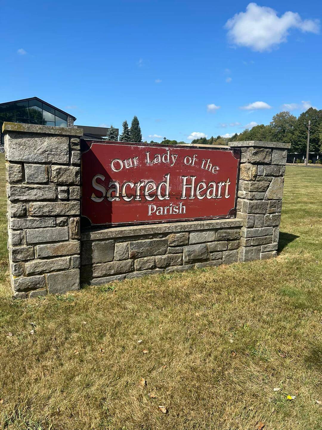
{"label": "bright blue sky with scattered white clouds above trees and building", "polygon": [[322,108],[321,16],[321,1],[1,1],[0,100],[90,126],[137,115],[148,141],[241,132]]}

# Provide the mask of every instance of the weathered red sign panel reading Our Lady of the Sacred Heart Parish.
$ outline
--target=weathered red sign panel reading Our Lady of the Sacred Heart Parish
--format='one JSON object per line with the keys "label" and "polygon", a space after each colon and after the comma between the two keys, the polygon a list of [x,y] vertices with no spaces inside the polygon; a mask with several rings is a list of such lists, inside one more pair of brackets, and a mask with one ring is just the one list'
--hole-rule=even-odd
{"label": "weathered red sign panel reading Our Lady of the Sacred Heart Parish", "polygon": [[240,151],[82,141],[82,216],[91,224],[232,218]]}

